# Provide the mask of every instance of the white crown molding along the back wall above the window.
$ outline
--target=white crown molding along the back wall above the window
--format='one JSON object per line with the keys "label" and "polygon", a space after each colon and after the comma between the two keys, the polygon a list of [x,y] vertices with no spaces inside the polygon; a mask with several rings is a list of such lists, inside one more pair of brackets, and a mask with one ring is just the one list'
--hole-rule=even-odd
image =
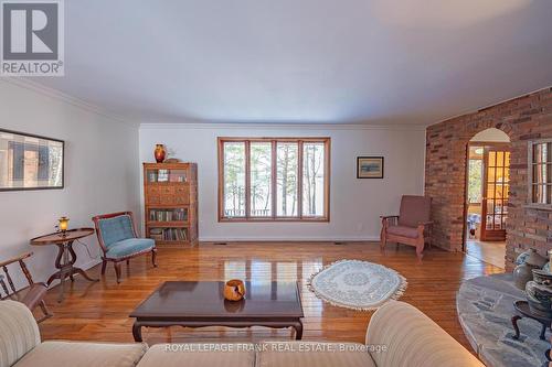
{"label": "white crown molding along the back wall above the window", "polygon": [[422,125],[362,125],[362,123],[289,123],[289,122],[142,122],[140,130],[181,129],[255,129],[255,130],[393,130],[425,131]]}

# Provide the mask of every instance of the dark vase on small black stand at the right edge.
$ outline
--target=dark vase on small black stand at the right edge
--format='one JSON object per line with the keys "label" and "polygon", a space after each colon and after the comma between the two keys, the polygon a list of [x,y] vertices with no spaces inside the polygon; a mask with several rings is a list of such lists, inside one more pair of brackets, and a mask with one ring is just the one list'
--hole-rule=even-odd
{"label": "dark vase on small black stand at the right edge", "polygon": [[537,315],[552,317],[552,274],[533,269],[533,279],[527,283],[529,309]]}

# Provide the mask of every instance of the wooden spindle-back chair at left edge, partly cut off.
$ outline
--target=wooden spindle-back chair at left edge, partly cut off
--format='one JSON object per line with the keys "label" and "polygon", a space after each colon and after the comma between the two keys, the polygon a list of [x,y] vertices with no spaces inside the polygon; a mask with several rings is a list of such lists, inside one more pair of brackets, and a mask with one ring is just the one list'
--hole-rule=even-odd
{"label": "wooden spindle-back chair at left edge, partly cut off", "polygon": [[[0,291],[0,300],[14,300],[23,303],[29,307],[29,310],[33,311],[36,306],[40,306],[42,313],[44,314],[42,317],[38,320],[38,322],[43,322],[44,320],[52,316],[50,311],[47,310],[46,303],[44,302],[44,296],[46,295],[47,285],[45,283],[35,283],[29,269],[26,268],[24,259],[28,259],[32,256],[32,252],[23,253],[17,258],[0,262],[0,268],[3,270],[3,274],[0,273],[0,285],[2,287],[3,294]],[[29,287],[23,290],[17,290],[13,284],[13,280],[8,270],[8,266],[14,262],[19,263],[21,271],[26,278],[29,282]],[[8,282],[8,284],[6,283]],[[9,288],[8,288],[9,285]]]}

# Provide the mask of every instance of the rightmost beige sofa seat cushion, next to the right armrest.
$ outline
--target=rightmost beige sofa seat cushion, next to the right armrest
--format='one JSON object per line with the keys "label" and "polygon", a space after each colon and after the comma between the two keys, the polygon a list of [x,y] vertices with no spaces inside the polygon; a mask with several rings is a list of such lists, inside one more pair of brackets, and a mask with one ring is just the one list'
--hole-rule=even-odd
{"label": "rightmost beige sofa seat cushion, next to the right armrest", "polygon": [[265,342],[258,350],[256,367],[375,367],[357,343]]}

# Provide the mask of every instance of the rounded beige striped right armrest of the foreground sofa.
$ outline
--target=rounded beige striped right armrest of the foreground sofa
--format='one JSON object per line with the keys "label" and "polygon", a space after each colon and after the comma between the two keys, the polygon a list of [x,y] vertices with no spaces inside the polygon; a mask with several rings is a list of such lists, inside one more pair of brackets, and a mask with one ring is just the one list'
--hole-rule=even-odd
{"label": "rounded beige striped right armrest of the foreground sofa", "polygon": [[399,301],[372,315],[367,345],[385,346],[385,352],[370,353],[378,367],[485,367],[433,320]]}

